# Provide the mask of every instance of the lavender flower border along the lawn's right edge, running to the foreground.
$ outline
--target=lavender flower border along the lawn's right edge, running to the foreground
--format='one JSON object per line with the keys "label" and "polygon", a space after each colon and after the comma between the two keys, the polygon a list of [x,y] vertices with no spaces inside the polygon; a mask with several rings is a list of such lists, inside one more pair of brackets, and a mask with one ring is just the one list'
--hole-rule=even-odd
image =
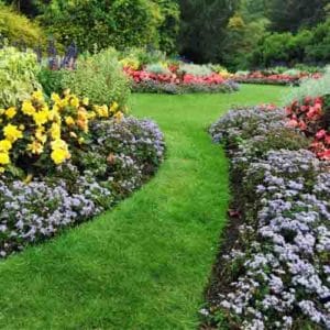
{"label": "lavender flower border along the lawn's right edge, running to the foreground", "polygon": [[252,108],[210,130],[229,150],[241,212],[204,310],[219,329],[330,329],[330,164],[284,123],[282,109]]}

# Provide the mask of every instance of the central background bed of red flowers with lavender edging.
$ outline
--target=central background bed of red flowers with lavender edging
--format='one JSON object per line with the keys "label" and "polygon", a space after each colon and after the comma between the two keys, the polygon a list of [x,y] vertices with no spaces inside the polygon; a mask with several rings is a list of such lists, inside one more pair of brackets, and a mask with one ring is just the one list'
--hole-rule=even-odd
{"label": "central background bed of red flowers with lavender edging", "polygon": [[132,89],[136,92],[230,92],[238,90],[238,85],[226,80],[217,73],[206,76],[179,72],[178,66],[172,66],[165,73],[151,73],[145,69],[124,67],[132,79]]}

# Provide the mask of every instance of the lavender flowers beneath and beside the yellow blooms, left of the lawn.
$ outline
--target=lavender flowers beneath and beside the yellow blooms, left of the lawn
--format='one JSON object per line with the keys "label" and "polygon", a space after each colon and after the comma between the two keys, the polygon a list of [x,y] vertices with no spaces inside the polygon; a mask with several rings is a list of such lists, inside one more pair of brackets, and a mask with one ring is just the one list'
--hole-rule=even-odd
{"label": "lavender flowers beneath and beside the yellow blooms, left of the lawn", "polygon": [[77,165],[66,163],[30,183],[0,180],[0,257],[111,208],[163,161],[164,138],[152,121],[109,120],[95,123],[91,131],[91,151],[75,160]]}

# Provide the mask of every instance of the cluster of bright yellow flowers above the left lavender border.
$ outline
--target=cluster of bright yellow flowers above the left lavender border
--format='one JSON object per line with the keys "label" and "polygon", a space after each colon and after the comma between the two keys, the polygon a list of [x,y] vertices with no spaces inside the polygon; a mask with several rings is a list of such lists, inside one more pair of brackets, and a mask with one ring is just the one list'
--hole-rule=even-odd
{"label": "cluster of bright yellow flowers above the left lavender border", "polygon": [[21,107],[0,109],[0,173],[11,163],[10,154],[18,140],[30,157],[48,153],[59,165],[72,157],[69,145],[81,145],[89,132],[89,121],[110,117],[121,120],[119,105],[91,106],[88,98],[79,99],[69,90],[64,97],[53,94],[50,105],[42,91],[35,91]]}

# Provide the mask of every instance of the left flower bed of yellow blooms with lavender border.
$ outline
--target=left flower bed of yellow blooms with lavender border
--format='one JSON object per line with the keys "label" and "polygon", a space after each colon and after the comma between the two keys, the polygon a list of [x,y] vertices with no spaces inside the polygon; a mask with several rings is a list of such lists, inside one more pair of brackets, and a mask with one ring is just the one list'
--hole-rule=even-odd
{"label": "left flower bed of yellow blooms with lavender border", "polygon": [[117,102],[37,91],[0,116],[2,257],[111,208],[164,156],[157,125],[125,118]]}

